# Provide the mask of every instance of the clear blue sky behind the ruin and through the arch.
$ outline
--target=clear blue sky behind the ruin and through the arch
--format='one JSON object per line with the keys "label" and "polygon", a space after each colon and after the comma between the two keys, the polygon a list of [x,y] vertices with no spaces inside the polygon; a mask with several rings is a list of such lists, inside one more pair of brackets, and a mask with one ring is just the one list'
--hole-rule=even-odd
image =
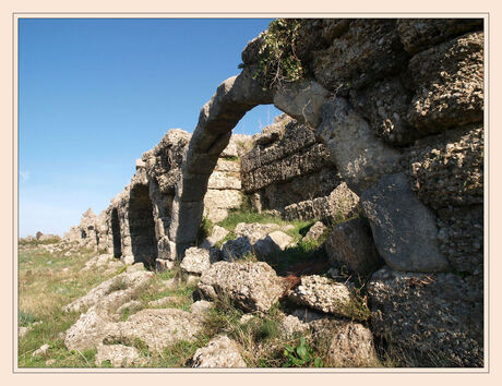
{"label": "clear blue sky behind the ruin and through the arch", "polygon": [[[96,215],[168,129],[193,132],[201,107],[240,70],[270,20],[20,21],[20,237],[61,234]],[[253,109],[236,133],[280,111]]]}

